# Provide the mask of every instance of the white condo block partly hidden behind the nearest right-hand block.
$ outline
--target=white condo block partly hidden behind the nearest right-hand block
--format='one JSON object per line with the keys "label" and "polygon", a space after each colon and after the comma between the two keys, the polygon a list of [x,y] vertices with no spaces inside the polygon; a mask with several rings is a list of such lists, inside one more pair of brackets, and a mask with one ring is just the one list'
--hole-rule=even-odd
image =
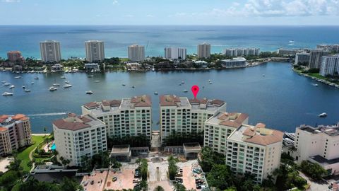
{"label": "white condo block partly hidden behind the nearest right-hand block", "polygon": [[249,115],[245,113],[220,112],[205,122],[203,146],[220,154],[227,154],[227,137],[242,125],[247,125]]}

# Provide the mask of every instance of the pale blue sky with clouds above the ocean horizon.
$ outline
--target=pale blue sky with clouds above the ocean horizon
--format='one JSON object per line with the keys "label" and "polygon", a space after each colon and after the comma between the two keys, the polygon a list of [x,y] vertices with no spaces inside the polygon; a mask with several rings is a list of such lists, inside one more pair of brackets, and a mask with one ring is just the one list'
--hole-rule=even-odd
{"label": "pale blue sky with clouds above the ocean horizon", "polygon": [[0,25],[339,25],[339,0],[0,0]]}

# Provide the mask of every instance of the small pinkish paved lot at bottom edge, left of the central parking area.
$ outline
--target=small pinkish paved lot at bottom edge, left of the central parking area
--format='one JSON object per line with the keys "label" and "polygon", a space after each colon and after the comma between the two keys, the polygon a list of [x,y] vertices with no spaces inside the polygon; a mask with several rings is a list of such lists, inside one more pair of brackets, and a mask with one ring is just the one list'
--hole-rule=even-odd
{"label": "small pinkish paved lot at bottom edge, left of the central parking area", "polygon": [[81,185],[86,191],[102,190],[104,188],[107,177],[107,170],[96,171],[93,175],[85,175],[81,181]]}

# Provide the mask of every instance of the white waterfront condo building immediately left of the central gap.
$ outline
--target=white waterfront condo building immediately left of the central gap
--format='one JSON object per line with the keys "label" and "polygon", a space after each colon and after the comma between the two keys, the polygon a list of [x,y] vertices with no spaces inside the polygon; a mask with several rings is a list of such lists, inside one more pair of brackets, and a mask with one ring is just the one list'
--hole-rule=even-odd
{"label": "white waterfront condo building immediately left of the central gap", "polygon": [[83,115],[90,114],[105,122],[109,137],[145,135],[152,129],[152,102],[150,96],[134,96],[122,100],[102,100],[86,103]]}

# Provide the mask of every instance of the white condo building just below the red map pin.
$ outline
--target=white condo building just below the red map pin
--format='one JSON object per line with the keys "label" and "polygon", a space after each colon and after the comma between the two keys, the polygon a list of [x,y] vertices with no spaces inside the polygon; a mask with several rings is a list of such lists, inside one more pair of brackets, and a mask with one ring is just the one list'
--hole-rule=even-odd
{"label": "white condo building just below the red map pin", "polygon": [[192,99],[175,95],[160,96],[160,137],[173,131],[180,133],[202,132],[208,118],[226,111],[222,100]]}

